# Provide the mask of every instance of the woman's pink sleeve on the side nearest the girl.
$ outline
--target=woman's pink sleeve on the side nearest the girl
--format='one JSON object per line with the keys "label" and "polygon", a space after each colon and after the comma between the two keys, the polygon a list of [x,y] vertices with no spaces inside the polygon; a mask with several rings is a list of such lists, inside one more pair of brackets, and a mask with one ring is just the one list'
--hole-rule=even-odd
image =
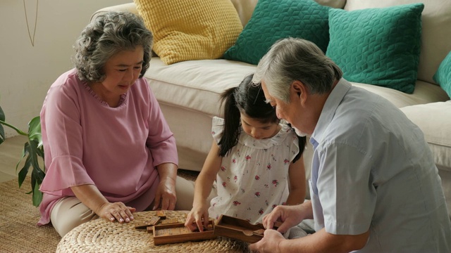
{"label": "woman's pink sleeve on the side nearest the girl", "polygon": [[147,84],[146,87],[149,91],[150,106],[147,147],[154,158],[153,165],[156,167],[157,165],[166,162],[178,165],[178,154],[174,135],[171,129],[169,129],[168,122],[166,122],[163,112],[161,112],[160,105],[156,100],[154,93],[152,93],[149,88],[149,84]]}

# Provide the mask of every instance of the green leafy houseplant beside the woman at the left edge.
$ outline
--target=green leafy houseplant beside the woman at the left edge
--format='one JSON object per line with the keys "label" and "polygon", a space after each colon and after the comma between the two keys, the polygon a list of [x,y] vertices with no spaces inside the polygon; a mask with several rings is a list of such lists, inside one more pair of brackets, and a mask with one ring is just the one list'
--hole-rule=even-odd
{"label": "green leafy houseplant beside the woman at the left edge", "polygon": [[0,106],[0,145],[1,143],[4,143],[6,139],[4,126],[10,127],[11,129],[16,130],[18,134],[27,136],[28,138],[23,147],[20,160],[16,165],[16,172],[18,171],[20,162],[24,157],[26,157],[24,166],[22,167],[22,169],[20,169],[20,171],[18,171],[18,183],[19,187],[22,186],[23,181],[25,181],[25,176],[27,176],[30,167],[32,167],[32,190],[30,191],[30,193],[32,194],[33,205],[37,207],[42,201],[42,193],[39,191],[39,186],[41,186],[42,180],[45,176],[45,166],[44,169],[41,169],[41,167],[39,166],[39,159],[42,159],[42,164],[44,164],[44,147],[42,145],[40,117],[37,116],[31,119],[31,121],[28,123],[28,131],[27,133],[25,133],[24,131],[18,129],[16,126],[5,122],[5,113]]}

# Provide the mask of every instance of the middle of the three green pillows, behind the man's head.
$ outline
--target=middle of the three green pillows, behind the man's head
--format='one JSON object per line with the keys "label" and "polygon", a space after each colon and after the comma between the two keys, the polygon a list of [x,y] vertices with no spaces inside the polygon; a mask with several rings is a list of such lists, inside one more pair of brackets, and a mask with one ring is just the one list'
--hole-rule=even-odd
{"label": "middle of the three green pillows, behind the man's head", "polygon": [[413,93],[424,4],[329,11],[326,55],[350,82]]}

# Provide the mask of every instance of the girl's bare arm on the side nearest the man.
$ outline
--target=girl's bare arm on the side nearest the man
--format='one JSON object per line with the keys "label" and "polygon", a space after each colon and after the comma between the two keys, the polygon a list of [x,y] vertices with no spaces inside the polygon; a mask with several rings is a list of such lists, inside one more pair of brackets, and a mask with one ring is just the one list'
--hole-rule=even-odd
{"label": "girl's bare arm on the side nearest the man", "polygon": [[301,155],[295,163],[291,162],[288,168],[288,177],[290,180],[290,194],[288,195],[287,205],[302,204],[306,191],[304,155]]}

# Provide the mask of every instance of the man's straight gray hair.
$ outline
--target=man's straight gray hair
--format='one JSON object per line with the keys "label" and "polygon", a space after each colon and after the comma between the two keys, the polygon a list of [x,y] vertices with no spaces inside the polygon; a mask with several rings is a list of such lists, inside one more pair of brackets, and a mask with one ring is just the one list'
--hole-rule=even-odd
{"label": "man's straight gray hair", "polygon": [[259,61],[252,82],[264,81],[274,98],[290,103],[290,86],[300,81],[311,93],[328,93],[342,70],[311,41],[287,38],[276,41]]}

